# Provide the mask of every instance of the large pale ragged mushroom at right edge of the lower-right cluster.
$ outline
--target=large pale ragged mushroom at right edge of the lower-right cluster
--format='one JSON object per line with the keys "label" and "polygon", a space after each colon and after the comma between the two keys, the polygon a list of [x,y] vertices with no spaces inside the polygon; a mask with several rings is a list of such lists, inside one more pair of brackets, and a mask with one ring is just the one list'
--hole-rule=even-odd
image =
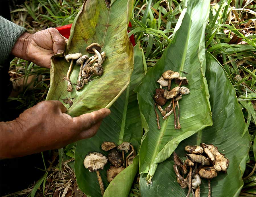
{"label": "large pale ragged mushroom at right edge of the lower-right cluster", "polygon": [[[223,155],[221,154],[219,151],[218,151],[218,147],[210,144],[210,145],[207,145],[207,144],[200,144],[203,148],[207,148],[208,150],[210,150],[210,152],[214,155],[214,169],[217,170],[217,171],[223,171],[223,172],[227,172],[227,169],[228,169],[228,165],[229,165],[229,160]],[[209,152],[208,152],[209,153]],[[210,157],[212,158],[212,155],[209,154]],[[209,155],[207,155],[209,157]]]}

